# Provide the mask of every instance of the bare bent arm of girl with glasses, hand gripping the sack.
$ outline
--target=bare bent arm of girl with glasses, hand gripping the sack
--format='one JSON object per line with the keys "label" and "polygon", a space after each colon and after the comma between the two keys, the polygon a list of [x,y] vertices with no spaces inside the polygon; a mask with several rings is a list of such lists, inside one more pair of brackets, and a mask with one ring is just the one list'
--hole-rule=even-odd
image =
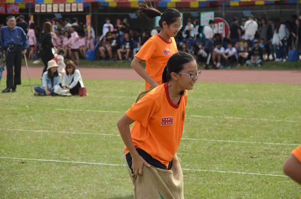
{"label": "bare bent arm of girl with glasses, hand gripping the sack", "polygon": [[150,167],[148,164],[136,151],[133,141],[130,135],[130,128],[129,125],[132,124],[134,120],[129,118],[126,114],[124,114],[119,121],[117,122],[117,127],[119,129],[119,133],[121,138],[128,149],[130,155],[132,156],[132,169],[135,175],[138,173],[142,174],[142,166],[145,164],[146,166]]}

